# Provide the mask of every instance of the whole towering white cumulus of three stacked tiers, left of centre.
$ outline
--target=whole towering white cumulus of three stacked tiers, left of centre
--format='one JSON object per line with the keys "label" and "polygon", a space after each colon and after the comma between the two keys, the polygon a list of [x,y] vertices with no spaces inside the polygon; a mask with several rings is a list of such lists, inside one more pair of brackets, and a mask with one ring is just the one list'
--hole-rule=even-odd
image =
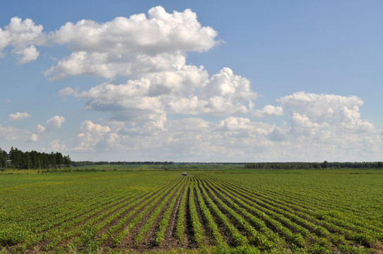
{"label": "whole towering white cumulus of three stacked tiers, left of centre", "polygon": [[168,114],[247,114],[257,97],[247,78],[222,68],[209,77],[203,66],[188,65],[187,52],[203,52],[219,43],[218,33],[202,26],[189,9],[167,13],[154,7],[106,23],[66,23],[49,38],[73,53],[46,71],[49,78],[98,75],[126,78],[88,91],[66,87],[59,95],[86,100],[86,109],[111,111],[114,119],[151,121],[160,128]]}

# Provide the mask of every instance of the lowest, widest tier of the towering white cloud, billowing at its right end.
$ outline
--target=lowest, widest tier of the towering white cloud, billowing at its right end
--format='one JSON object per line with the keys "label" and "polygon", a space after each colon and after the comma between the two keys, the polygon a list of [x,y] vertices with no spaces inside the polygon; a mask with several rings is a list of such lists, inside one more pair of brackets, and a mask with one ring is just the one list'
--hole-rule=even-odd
{"label": "lowest, widest tier of the towering white cloud, billowing at its right end", "polygon": [[[60,94],[73,93],[78,98],[86,99],[88,110],[111,111],[116,119],[141,122],[153,119],[163,121],[167,114],[246,114],[252,103],[248,103],[247,107],[244,102],[251,102],[250,99],[257,97],[250,88],[249,80],[234,75],[230,68],[223,68],[208,78],[203,66],[183,66],[178,71],[127,80],[126,84],[103,83],[88,91],[73,91],[73,88],[67,87]],[[214,91],[218,94],[215,95]],[[157,122],[158,126],[162,124]]]}

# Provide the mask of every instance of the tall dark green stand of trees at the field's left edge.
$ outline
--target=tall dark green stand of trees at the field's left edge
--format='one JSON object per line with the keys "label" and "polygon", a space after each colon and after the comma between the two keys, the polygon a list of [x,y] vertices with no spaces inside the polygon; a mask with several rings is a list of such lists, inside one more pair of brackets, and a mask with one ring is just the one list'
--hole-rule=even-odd
{"label": "tall dark green stand of trees at the field's left edge", "polygon": [[57,169],[71,167],[69,155],[63,156],[61,152],[23,152],[11,147],[9,152],[0,148],[0,168],[12,169]]}

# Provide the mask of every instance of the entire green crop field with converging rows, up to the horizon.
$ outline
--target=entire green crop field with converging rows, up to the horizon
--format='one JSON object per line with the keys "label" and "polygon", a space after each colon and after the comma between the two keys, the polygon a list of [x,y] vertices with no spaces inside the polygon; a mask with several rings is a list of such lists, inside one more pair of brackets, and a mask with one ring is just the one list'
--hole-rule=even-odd
{"label": "entire green crop field with converging rows, up to the horizon", "polygon": [[382,170],[0,174],[0,253],[383,253]]}

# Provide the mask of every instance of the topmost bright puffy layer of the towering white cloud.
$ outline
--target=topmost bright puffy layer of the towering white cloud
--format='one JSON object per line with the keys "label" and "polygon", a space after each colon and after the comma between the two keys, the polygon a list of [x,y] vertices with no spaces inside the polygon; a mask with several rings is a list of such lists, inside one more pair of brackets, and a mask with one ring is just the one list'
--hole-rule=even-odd
{"label": "topmost bright puffy layer of the towering white cloud", "polygon": [[72,44],[75,51],[112,54],[150,54],[159,52],[202,52],[217,42],[213,28],[202,27],[196,13],[167,13],[161,6],[129,18],[118,17],[106,23],[80,20],[66,23],[51,35],[59,44]]}

